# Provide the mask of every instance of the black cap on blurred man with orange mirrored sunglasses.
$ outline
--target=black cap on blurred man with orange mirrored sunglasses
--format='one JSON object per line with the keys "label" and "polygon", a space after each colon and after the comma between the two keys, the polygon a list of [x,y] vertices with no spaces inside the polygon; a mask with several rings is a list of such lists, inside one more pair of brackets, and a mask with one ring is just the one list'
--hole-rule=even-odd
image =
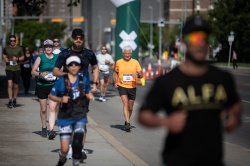
{"label": "black cap on blurred man with orange mirrored sunglasses", "polygon": [[182,29],[182,34],[189,34],[194,31],[203,31],[210,34],[210,27],[208,23],[199,16],[188,19]]}

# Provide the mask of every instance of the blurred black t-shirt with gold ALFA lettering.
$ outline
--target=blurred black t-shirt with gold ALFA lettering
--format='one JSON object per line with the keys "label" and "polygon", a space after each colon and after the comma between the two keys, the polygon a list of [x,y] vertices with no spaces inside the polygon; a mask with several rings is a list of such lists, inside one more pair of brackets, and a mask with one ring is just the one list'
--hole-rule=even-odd
{"label": "blurred black t-shirt with gold ALFA lettering", "polygon": [[220,113],[237,101],[229,73],[209,66],[204,75],[192,77],[177,67],[156,79],[140,110],[187,110],[184,130],[166,138],[162,158],[168,166],[222,166]]}

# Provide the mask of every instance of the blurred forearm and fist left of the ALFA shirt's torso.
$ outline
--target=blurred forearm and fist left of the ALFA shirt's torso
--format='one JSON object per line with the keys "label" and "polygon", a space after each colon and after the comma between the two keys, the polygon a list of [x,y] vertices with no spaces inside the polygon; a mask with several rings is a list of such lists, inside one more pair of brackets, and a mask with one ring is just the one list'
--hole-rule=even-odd
{"label": "blurred forearm and fist left of the ALFA shirt's torso", "polygon": [[142,110],[138,120],[147,127],[164,127],[171,133],[180,133],[186,124],[187,112],[176,111],[169,116],[159,117],[152,110]]}

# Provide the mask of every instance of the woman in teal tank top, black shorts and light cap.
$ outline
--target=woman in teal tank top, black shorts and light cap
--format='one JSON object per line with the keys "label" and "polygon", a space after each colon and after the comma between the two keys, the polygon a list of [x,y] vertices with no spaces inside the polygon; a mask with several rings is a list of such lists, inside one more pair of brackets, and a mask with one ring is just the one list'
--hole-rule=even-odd
{"label": "woman in teal tank top, black shorts and light cap", "polygon": [[[52,71],[58,58],[58,54],[53,54],[53,41],[45,40],[44,41],[44,51],[45,53],[41,54],[37,57],[34,66],[32,68],[32,75],[38,77],[37,85],[36,85],[36,94],[40,102],[40,116],[42,121],[42,137],[47,137],[47,100],[48,95],[55,84],[56,77],[53,76]],[[37,68],[39,67],[39,72]],[[56,102],[49,100],[49,139],[55,138],[55,133],[53,128],[55,126],[55,108]]]}

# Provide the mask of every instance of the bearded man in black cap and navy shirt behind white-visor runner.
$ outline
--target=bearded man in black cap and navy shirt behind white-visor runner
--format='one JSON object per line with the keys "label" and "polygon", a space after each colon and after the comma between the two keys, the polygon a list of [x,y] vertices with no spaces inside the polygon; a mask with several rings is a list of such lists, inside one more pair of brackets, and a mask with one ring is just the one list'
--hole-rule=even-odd
{"label": "bearded man in black cap and navy shirt behind white-visor runner", "polygon": [[[73,46],[69,49],[65,49],[62,52],[60,52],[59,57],[56,61],[55,67],[53,69],[53,74],[57,77],[61,77],[65,74],[67,74],[67,68],[65,66],[65,62],[68,56],[70,55],[77,55],[81,57],[81,64],[82,68],[79,70],[78,74],[82,76],[86,76],[89,79],[89,72],[88,72],[88,66],[91,64],[92,69],[93,69],[93,85],[92,85],[92,91],[96,92],[97,88],[97,80],[99,77],[99,68],[97,65],[97,60],[94,52],[92,50],[88,50],[83,47],[84,44],[84,33],[81,29],[74,29],[72,31],[72,35],[70,40],[73,43]],[[61,67],[63,67],[63,71],[61,71]],[[87,103],[87,108],[89,105],[89,100]],[[84,140],[86,137],[86,132],[84,133],[84,138],[83,138],[83,145],[84,145]],[[83,150],[84,152],[84,150]],[[83,154],[83,158],[86,159],[86,154]]]}

